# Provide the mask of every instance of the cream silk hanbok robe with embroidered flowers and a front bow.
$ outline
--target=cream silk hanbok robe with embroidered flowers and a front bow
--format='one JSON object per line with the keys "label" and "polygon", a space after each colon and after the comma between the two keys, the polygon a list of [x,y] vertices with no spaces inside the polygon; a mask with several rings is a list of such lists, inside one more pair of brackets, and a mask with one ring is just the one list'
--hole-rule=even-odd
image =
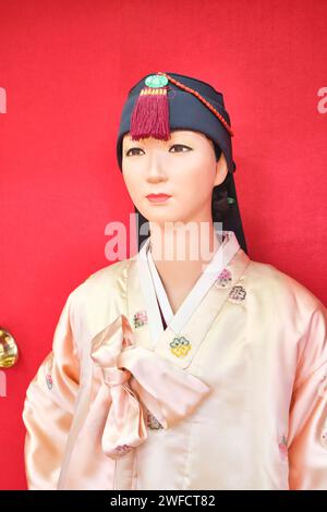
{"label": "cream silk hanbok robe with embroidered flowers and a front bow", "polygon": [[149,239],[72,291],[26,393],[29,489],[327,489],[327,310],[223,235],[175,315],[161,289],[166,329]]}

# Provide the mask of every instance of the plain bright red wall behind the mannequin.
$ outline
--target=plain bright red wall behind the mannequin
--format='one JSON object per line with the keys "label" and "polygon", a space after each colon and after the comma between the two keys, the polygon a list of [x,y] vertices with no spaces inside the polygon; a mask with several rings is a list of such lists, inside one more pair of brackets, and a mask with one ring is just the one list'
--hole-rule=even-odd
{"label": "plain bright red wall behind the mannequin", "polygon": [[64,301],[133,211],[116,136],[144,74],[223,92],[249,254],[327,303],[326,16],[325,0],[1,2],[0,325],[21,358],[0,398],[0,488],[25,488],[25,390]]}

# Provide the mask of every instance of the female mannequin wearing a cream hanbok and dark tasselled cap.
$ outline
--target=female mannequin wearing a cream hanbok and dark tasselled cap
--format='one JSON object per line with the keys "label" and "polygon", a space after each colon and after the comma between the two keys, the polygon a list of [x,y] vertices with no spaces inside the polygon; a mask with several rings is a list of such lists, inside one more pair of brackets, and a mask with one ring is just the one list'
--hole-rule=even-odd
{"label": "female mannequin wearing a cream hanbok and dark tasselled cap", "polygon": [[208,84],[130,90],[118,162],[150,236],[68,297],[24,406],[31,489],[327,488],[327,312],[247,256],[230,136]]}

